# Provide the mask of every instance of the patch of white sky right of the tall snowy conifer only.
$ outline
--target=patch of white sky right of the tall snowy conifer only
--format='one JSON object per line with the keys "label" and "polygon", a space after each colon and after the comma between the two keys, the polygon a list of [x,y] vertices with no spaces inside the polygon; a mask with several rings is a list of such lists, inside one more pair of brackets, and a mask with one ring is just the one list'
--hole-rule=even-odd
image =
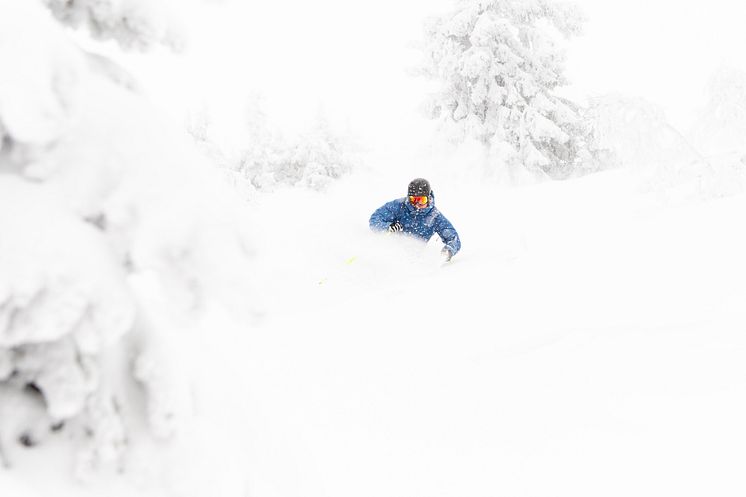
{"label": "patch of white sky right of the tall snowy conifer only", "polygon": [[586,94],[618,91],[663,107],[686,127],[721,66],[746,69],[746,3],[580,0],[588,22],[567,75]]}

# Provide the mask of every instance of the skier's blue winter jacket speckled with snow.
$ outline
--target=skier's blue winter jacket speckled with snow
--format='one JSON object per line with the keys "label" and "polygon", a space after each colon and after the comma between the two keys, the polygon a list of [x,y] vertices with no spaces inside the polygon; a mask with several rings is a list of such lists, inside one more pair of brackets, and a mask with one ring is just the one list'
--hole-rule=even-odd
{"label": "skier's blue winter jacket speckled with snow", "polygon": [[370,216],[370,229],[386,231],[394,221],[401,223],[404,228],[403,233],[421,238],[426,242],[430,240],[433,233],[437,233],[451,255],[456,255],[456,252],[461,249],[461,240],[456,228],[435,207],[435,194],[432,192],[430,192],[428,206],[424,209],[416,209],[409,203],[407,197],[387,202]]}

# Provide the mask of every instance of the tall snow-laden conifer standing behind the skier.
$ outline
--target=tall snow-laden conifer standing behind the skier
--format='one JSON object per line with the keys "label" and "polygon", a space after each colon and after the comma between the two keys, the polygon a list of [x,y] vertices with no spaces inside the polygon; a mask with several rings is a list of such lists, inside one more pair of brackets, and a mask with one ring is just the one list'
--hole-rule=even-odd
{"label": "tall snow-laden conifer standing behind the skier", "polygon": [[551,0],[465,0],[431,20],[421,73],[440,82],[428,102],[455,141],[477,139],[501,164],[564,177],[584,160],[580,109],[556,90],[566,84],[563,38],[582,16]]}

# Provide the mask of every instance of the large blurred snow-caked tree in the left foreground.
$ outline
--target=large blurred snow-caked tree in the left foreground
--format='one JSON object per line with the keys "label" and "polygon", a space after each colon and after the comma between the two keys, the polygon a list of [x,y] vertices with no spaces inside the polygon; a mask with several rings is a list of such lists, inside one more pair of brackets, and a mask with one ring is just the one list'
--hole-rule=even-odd
{"label": "large blurred snow-caked tree in the left foreground", "polygon": [[[46,3],[125,47],[177,31],[163,2]],[[126,474],[146,433],[189,438],[197,323],[251,299],[241,203],[41,2],[0,2],[0,65],[0,462],[62,432],[79,475]]]}

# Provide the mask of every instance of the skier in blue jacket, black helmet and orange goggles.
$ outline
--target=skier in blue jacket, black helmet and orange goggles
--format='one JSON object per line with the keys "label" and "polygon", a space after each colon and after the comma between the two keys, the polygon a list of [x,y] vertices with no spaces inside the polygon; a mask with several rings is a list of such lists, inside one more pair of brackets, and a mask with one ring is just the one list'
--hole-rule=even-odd
{"label": "skier in blue jacket, black helmet and orange goggles", "polygon": [[441,253],[446,262],[461,249],[456,228],[435,207],[435,194],[424,178],[412,180],[407,196],[379,207],[370,216],[369,223],[373,231],[404,233],[425,242],[437,233],[445,244]]}

